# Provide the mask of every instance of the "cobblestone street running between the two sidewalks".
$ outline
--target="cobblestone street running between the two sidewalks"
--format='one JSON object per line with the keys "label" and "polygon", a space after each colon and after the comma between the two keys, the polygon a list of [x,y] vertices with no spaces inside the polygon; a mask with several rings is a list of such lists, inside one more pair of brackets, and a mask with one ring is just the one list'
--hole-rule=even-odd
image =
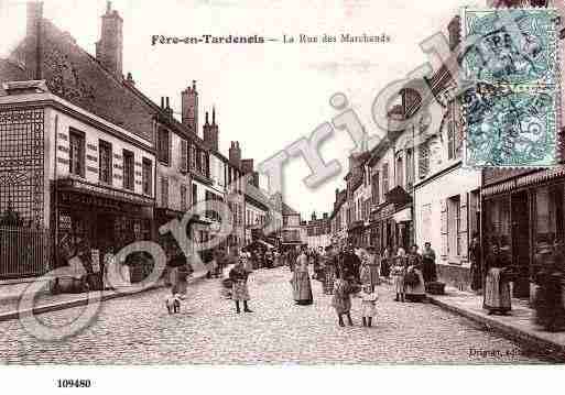
{"label": "cobblestone street running between the two sidewalks", "polygon": [[[355,327],[340,328],[313,281],[314,305],[295,306],[285,267],[250,277],[253,314],[236,315],[218,279],[189,288],[180,315],[170,316],[169,289],[106,301],[94,323],[61,343],[41,342],[18,320],[0,323],[2,364],[148,363],[541,363],[519,344],[431,304],[392,301],[390,286],[379,287],[379,316],[363,328],[359,299]],[[40,316],[51,325],[72,320],[73,308]],[[470,356],[469,349],[500,350],[503,356]],[[508,355],[506,354],[508,352]]]}

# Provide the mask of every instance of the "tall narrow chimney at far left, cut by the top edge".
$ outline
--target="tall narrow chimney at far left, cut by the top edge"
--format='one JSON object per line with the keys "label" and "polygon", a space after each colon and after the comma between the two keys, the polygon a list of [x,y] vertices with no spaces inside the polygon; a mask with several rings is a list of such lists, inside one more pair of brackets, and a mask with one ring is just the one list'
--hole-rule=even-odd
{"label": "tall narrow chimney at far left, cut by the top edge", "polygon": [[43,2],[28,2],[26,14],[26,36],[25,36],[25,70],[29,79],[43,79],[42,76],[42,20],[43,20]]}

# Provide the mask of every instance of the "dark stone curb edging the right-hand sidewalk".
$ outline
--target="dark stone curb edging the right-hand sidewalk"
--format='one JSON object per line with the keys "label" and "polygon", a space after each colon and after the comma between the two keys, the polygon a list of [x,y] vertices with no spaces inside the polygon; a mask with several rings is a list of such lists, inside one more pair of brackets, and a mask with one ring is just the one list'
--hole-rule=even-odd
{"label": "dark stone curb edging the right-hand sidewalk", "polygon": [[478,315],[476,312],[466,310],[464,308],[447,304],[445,301],[436,299],[434,296],[427,295],[427,300],[435,306],[438,306],[447,311],[455,312],[459,316],[468,318],[475,322],[482,323],[489,329],[493,329],[497,332],[519,342],[526,343],[533,348],[543,348],[546,352],[551,353],[552,356],[565,361],[565,344],[554,342],[550,339],[528,333],[521,329],[518,329],[511,325],[497,321],[496,319]]}

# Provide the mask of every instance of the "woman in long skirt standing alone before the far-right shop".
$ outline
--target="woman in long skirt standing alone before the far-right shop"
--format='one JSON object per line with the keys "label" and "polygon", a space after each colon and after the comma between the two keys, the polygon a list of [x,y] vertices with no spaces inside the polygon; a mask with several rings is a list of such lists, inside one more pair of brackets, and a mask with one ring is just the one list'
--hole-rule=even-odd
{"label": "woman in long skirt standing alone before the far-right shop", "polygon": [[485,281],[485,301],[482,307],[489,314],[504,315],[511,310],[510,282],[504,276],[508,261],[500,253],[497,243],[492,244],[492,251],[486,259],[487,278]]}

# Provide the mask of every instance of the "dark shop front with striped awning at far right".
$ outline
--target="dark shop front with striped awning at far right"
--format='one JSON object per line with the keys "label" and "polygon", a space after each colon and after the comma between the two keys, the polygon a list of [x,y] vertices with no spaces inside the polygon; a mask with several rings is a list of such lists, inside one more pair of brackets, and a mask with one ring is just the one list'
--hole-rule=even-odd
{"label": "dark shop front with striped awning at far right", "polygon": [[540,257],[565,244],[565,169],[515,176],[482,189],[482,252],[500,246],[515,268],[513,296],[532,296]]}

